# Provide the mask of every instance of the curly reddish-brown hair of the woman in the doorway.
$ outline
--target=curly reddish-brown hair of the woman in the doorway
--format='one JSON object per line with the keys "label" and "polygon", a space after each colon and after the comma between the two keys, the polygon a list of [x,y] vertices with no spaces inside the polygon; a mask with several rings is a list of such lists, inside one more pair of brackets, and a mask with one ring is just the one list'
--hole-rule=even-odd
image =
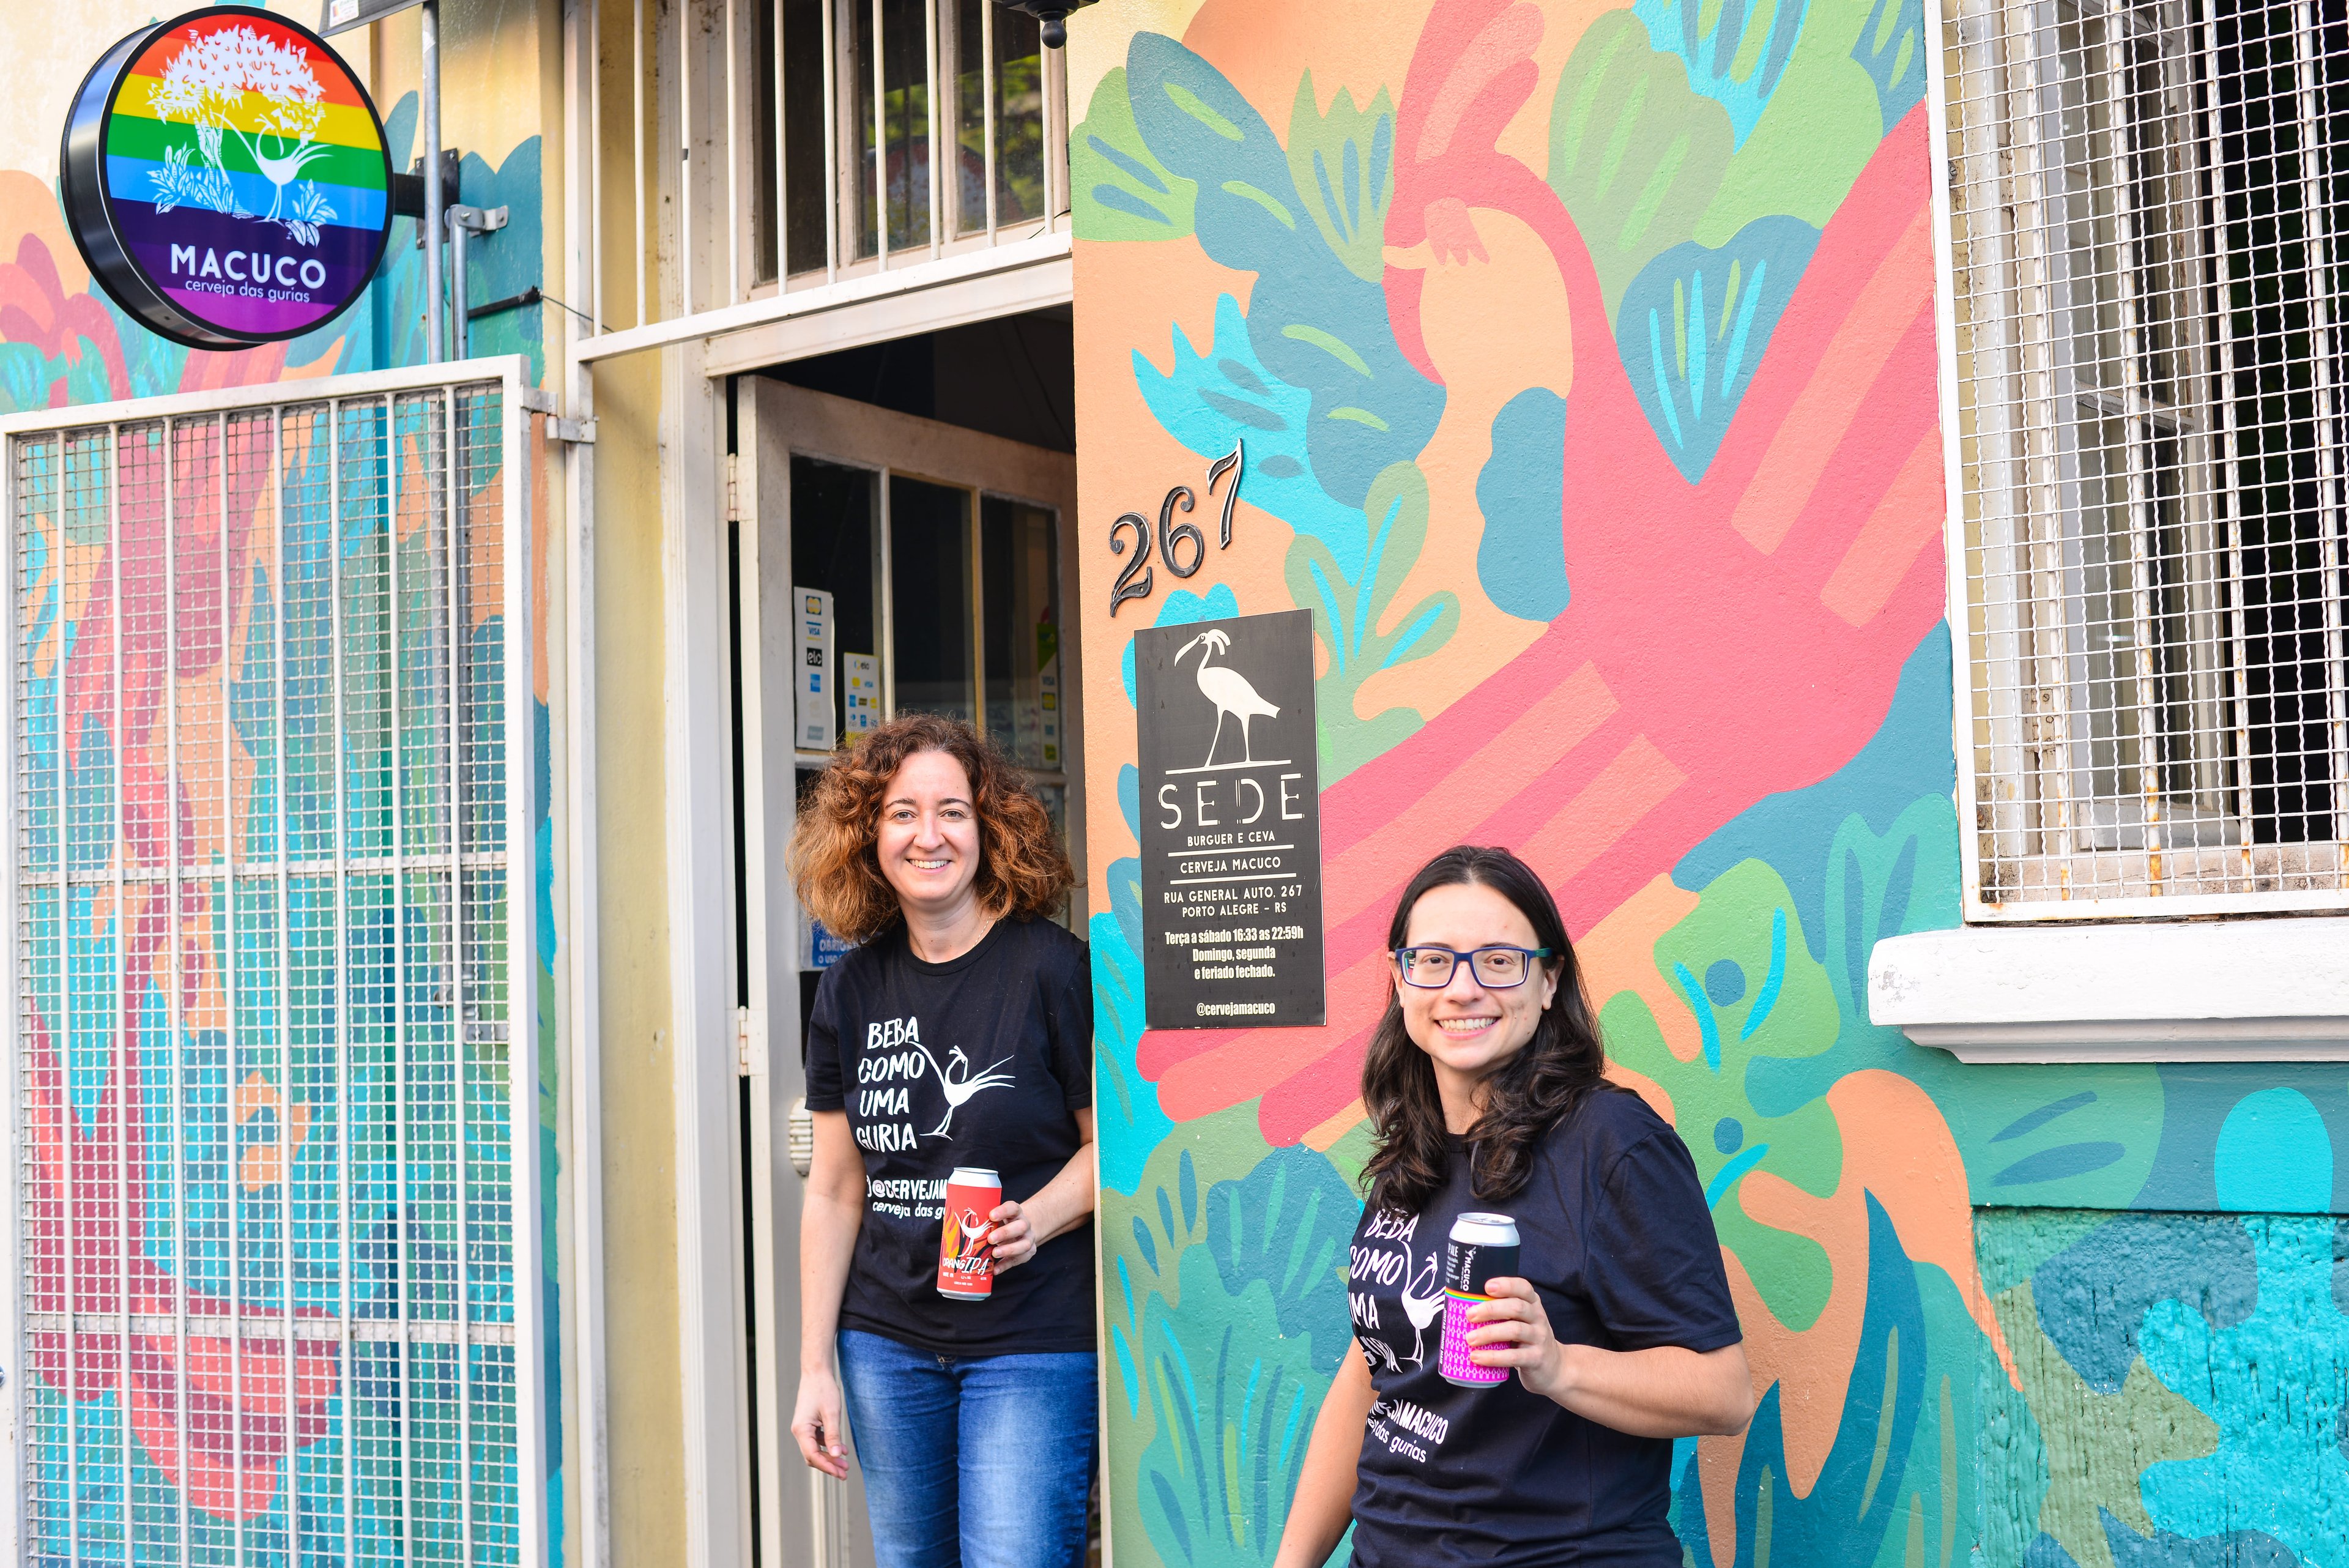
{"label": "curly reddish-brown hair of the woman in the doorway", "polygon": [[944,752],[970,778],[980,907],[996,919],[1057,914],[1076,870],[1036,790],[980,731],[935,712],[907,712],[864,731],[815,776],[787,856],[799,900],[846,943],[871,940],[902,917],[874,844],[881,797],[916,752]]}

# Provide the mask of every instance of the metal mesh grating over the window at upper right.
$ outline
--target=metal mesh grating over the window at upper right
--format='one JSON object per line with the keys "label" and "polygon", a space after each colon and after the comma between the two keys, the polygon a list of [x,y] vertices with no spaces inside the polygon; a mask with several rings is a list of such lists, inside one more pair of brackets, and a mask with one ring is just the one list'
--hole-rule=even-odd
{"label": "metal mesh grating over the window at upper right", "polygon": [[1945,0],[1943,94],[1973,912],[2349,903],[2342,2]]}

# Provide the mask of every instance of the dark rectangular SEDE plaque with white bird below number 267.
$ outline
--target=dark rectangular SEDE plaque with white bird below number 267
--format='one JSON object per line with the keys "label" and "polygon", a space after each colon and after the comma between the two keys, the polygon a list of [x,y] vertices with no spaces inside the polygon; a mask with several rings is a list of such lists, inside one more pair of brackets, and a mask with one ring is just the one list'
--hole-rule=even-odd
{"label": "dark rectangular SEDE plaque with white bird below number 267", "polygon": [[1135,632],[1153,1030],[1322,1023],[1313,616]]}

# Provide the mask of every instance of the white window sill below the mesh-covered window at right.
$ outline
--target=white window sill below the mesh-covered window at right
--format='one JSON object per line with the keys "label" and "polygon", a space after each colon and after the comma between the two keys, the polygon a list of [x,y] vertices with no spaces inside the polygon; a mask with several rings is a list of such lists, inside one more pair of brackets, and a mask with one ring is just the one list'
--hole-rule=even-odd
{"label": "white window sill below the mesh-covered window at right", "polygon": [[1891,936],[1867,1018],[1964,1063],[2349,1060],[2349,917]]}

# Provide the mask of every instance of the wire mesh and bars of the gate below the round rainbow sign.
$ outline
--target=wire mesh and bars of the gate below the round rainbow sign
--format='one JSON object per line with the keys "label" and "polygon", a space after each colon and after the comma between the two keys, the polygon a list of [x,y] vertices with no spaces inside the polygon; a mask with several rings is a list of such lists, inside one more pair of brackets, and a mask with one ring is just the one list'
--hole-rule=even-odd
{"label": "wire mesh and bars of the gate below the round rainbow sign", "polygon": [[26,1561],[524,1556],[507,402],[9,440]]}

